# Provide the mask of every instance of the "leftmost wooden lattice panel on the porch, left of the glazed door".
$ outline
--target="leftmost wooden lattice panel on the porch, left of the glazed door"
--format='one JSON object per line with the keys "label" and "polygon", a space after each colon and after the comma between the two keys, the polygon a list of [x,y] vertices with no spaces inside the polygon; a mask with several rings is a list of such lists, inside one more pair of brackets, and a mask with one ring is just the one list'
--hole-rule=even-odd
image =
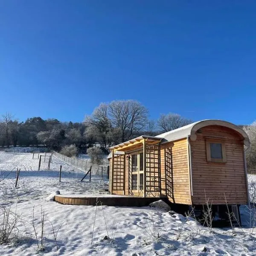
{"label": "leftmost wooden lattice panel on the porch, left of the glazed door", "polygon": [[124,155],[117,155],[114,157],[113,163],[113,190],[124,190],[124,169],[125,157]]}

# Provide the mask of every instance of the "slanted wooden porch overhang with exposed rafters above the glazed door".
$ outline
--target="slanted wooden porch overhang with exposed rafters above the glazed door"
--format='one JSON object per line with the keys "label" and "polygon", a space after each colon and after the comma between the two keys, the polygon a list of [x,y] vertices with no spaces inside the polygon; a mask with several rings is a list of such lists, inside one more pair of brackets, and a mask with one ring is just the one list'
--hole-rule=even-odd
{"label": "slanted wooden porch overhang with exposed rafters above the glazed door", "polygon": [[142,135],[140,137],[137,137],[132,140],[128,140],[124,143],[120,143],[118,145],[115,145],[110,148],[111,151],[116,152],[116,151],[133,151],[139,148],[143,147],[143,143],[146,143],[147,145],[154,145],[157,143],[160,143],[163,140],[163,138],[160,137],[153,137],[153,136],[146,136]]}

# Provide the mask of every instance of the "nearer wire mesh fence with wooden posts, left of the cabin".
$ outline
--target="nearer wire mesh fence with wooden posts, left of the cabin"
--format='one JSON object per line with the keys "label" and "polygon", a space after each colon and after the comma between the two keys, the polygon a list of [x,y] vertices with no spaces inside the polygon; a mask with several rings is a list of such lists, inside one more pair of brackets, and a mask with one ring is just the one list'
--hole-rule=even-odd
{"label": "nearer wire mesh fence with wooden posts, left of the cabin", "polygon": [[[92,176],[84,180],[83,172],[57,171],[0,171],[0,191],[19,196],[28,192],[41,195],[42,192],[61,190],[66,193],[108,194],[108,179]],[[8,192],[9,191],[9,192]],[[64,192],[64,193],[65,193]]]}

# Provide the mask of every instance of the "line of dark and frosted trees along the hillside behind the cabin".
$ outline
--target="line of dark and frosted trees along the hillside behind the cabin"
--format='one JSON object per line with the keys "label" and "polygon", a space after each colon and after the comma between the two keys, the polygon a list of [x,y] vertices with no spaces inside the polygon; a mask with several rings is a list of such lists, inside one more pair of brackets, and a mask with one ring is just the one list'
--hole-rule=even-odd
{"label": "line of dark and frosted trees along the hillside behind the cabin", "polygon": [[58,119],[31,117],[19,122],[10,113],[0,122],[1,146],[38,146],[61,150],[75,144],[80,150],[95,144],[107,152],[111,145],[142,134],[155,136],[191,123],[175,113],[149,119],[148,109],[134,100],[101,103],[83,122],[61,122]]}

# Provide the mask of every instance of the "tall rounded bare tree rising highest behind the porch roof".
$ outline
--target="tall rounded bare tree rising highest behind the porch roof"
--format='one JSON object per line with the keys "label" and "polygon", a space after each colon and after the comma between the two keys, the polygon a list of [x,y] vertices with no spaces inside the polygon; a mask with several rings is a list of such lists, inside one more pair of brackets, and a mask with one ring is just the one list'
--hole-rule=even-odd
{"label": "tall rounded bare tree rising highest behind the porch roof", "polygon": [[134,100],[112,101],[108,116],[114,128],[120,129],[120,140],[129,140],[135,131],[141,131],[148,122],[148,110]]}

